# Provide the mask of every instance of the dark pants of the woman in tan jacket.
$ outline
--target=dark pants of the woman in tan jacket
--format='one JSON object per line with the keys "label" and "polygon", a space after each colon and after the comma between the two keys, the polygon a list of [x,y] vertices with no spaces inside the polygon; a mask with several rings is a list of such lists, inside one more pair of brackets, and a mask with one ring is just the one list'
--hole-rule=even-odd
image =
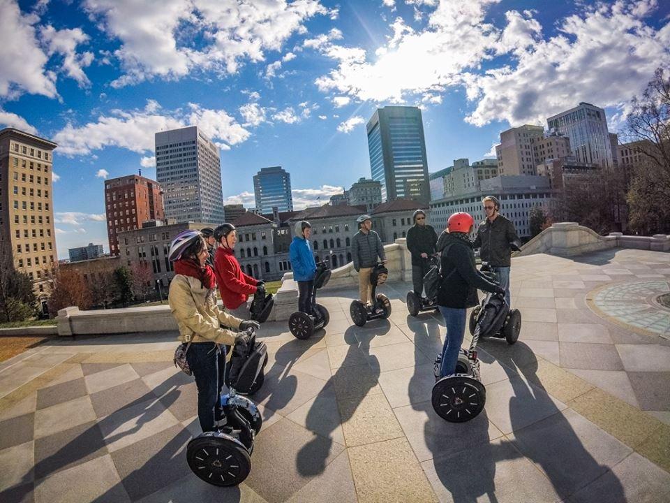
{"label": "dark pants of the woman in tan jacket", "polygon": [[225,350],[214,342],[191,344],[186,361],[193,371],[198,388],[198,421],[203,432],[214,431],[214,423],[221,419],[219,396],[224,383]]}

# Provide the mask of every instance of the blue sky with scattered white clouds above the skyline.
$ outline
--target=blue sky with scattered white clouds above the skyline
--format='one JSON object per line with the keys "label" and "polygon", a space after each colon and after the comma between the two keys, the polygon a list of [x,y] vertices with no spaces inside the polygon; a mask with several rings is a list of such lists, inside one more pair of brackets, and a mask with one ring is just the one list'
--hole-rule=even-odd
{"label": "blue sky with scattered white clouds above the skyline", "polygon": [[670,68],[667,0],[0,0],[0,27],[0,127],[59,145],[61,258],[108,251],[104,180],[155,179],[156,131],[214,140],[225,203],[282,166],[301,209],[370,177],[375,108],[422,108],[434,172],[580,101],[618,131]]}

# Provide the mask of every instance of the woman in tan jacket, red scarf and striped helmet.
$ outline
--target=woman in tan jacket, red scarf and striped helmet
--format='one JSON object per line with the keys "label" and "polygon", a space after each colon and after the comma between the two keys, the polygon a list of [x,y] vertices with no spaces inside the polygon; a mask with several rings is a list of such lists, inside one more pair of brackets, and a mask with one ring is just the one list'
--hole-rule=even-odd
{"label": "woman in tan jacket, red scarf and striped helmet", "polygon": [[175,276],[168,301],[179,326],[179,340],[190,343],[186,361],[198,388],[198,420],[203,432],[214,431],[221,420],[218,400],[225,373],[223,344],[246,342],[249,329],[258,330],[259,325],[235,318],[216,306],[216,279],[207,265],[207,242],[200,232],[179,233],[170,246],[169,257]]}

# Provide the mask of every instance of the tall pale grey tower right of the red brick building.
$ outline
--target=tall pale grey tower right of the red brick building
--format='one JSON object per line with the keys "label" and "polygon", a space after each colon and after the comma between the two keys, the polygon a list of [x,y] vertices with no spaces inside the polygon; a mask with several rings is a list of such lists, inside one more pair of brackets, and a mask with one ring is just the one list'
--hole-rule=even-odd
{"label": "tall pale grey tower right of the red brick building", "polygon": [[165,217],[223,222],[218,147],[198,126],[156,133],[156,180],[165,191]]}

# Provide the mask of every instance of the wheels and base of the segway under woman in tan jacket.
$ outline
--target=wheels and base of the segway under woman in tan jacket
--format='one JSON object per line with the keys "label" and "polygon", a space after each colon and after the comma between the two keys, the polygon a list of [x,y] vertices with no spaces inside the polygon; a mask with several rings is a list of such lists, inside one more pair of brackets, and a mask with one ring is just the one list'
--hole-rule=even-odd
{"label": "wheels and base of the segway under woman in tan jacket", "polygon": [[237,486],[251,472],[251,453],[262,417],[248,398],[234,388],[221,395],[218,431],[204,432],[186,446],[186,462],[193,473],[214,486]]}

